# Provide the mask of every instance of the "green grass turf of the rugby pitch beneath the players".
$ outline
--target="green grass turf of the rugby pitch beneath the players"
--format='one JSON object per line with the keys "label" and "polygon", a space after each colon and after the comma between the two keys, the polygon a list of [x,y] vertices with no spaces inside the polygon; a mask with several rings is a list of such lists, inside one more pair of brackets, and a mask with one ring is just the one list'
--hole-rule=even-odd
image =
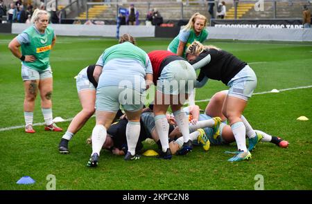
{"label": "green grass turf of the rugby pitch beneath the players", "polygon": [[[24,87],[20,62],[7,46],[15,35],[0,35],[0,129],[24,124]],[[137,39],[147,52],[166,49],[170,39]],[[115,39],[98,37],[58,37],[51,53],[53,69],[53,116],[72,118],[80,111],[73,79],[79,71],[94,64]],[[312,85],[312,44],[256,41],[207,41],[250,63],[258,78],[255,93]],[[209,81],[196,89],[196,100],[205,100],[227,86]],[[207,102],[199,102],[205,109]],[[290,142],[289,149],[261,143],[252,160],[228,163],[224,151],[236,145],[211,147],[204,152],[194,148],[187,156],[172,160],[143,157],[125,162],[122,156],[103,151],[98,168],[86,167],[91,147],[85,140],[91,135],[91,118],[69,143],[71,154],[60,155],[58,142],[62,133],[26,134],[24,129],[0,131],[0,189],[46,189],[46,176],[56,177],[56,189],[254,189],[254,176],[263,175],[265,189],[312,189],[312,89],[254,95],[244,115],[254,129],[281,136]],[[296,120],[305,115],[310,120]],[[37,99],[34,122],[42,122]],[[58,123],[66,129],[69,122]],[[155,145],[145,145],[146,149]],[[17,185],[21,176],[31,176],[33,185]]]}

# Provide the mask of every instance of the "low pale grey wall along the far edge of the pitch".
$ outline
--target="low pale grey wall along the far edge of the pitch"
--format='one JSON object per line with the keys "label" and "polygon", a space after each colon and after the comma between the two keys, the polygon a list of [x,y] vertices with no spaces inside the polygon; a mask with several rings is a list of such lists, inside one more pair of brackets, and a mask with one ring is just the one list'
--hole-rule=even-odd
{"label": "low pale grey wall along the far edge of the pitch", "polygon": [[[12,24],[12,33],[19,34],[29,24]],[[68,25],[51,24],[56,35],[116,37],[114,25]],[[2,30],[2,29],[1,29]],[[2,33],[0,30],[0,33]],[[177,30],[160,29],[155,26],[121,26],[119,35],[130,33],[134,37],[175,37]],[[312,29],[286,28],[216,28],[208,27],[209,39],[312,41]]]}

